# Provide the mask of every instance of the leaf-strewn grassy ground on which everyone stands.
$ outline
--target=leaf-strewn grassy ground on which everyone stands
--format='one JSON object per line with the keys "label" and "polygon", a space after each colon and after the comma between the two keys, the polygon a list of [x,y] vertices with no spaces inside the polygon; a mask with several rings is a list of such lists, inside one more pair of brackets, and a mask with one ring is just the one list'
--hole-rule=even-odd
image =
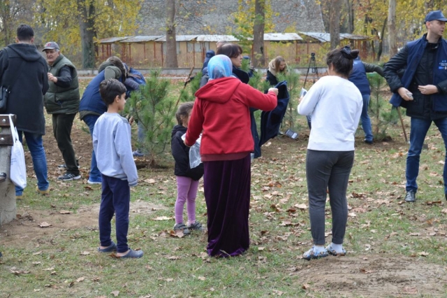
{"label": "leaf-strewn grassy ground on which everyone stands", "polygon": [[[305,118],[299,122],[305,127]],[[85,140],[75,143],[76,151],[89,152],[79,120],[74,130]],[[140,169],[131,192],[129,245],[145,256],[119,260],[97,253],[101,187],[86,179],[57,181],[60,157],[54,152],[50,196],[34,192],[30,169],[17,219],[0,227],[0,297],[446,297],[445,149],[436,127],[421,155],[416,204],[403,202],[408,144],[401,127],[390,127],[392,141],[372,146],[362,143],[359,129],[348,189],[349,254],[311,262],[301,259],[312,245],[305,179],[309,130],[299,133],[297,141],[271,140],[252,164],[251,246],[229,259],[207,257],[206,234],[172,232],[176,184],[169,155],[161,162],[166,169]],[[86,177],[88,156],[82,161]],[[205,224],[202,183],[196,213]]]}

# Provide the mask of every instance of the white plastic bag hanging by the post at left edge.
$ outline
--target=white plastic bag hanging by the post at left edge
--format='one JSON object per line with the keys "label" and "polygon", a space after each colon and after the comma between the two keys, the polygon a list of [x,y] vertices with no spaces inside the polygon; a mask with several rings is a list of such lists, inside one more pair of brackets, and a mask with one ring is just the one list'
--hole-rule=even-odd
{"label": "white plastic bag hanging by the post at left edge", "polygon": [[19,141],[19,134],[17,134],[17,129],[13,125],[11,115],[9,115],[9,123],[11,134],[13,135],[10,180],[13,181],[15,186],[25,188],[27,187],[27,166],[25,165],[25,155],[23,152],[22,143]]}

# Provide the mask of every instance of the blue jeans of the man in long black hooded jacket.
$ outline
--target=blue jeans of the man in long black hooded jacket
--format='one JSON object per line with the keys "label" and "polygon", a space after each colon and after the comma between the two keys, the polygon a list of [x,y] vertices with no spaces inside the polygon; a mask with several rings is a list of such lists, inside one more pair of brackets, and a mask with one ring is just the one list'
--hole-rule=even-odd
{"label": "blue jeans of the man in long black hooded jacket", "polygon": [[[31,159],[33,159],[34,173],[37,177],[37,187],[39,190],[47,190],[50,187],[48,182],[47,172],[47,156],[45,155],[45,149],[43,149],[42,135],[31,134],[30,132],[17,131],[19,134],[19,140],[22,143],[22,134],[27,139],[27,146],[31,153]],[[23,194],[22,187],[15,187],[15,195],[21,196]]]}

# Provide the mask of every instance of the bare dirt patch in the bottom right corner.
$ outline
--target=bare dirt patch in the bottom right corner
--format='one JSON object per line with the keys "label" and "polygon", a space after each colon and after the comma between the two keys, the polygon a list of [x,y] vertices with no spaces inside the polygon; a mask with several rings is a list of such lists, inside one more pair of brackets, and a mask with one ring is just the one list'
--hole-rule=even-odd
{"label": "bare dirt patch in the bottom right corner", "polygon": [[[446,267],[395,255],[327,257],[297,268],[300,288],[327,297],[406,297],[446,294]],[[326,292],[327,291],[327,292]]]}

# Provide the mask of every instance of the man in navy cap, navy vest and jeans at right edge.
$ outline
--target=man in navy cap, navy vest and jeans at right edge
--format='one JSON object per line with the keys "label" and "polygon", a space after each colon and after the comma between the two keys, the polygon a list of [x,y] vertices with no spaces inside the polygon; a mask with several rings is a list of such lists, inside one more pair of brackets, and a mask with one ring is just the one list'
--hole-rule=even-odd
{"label": "man in navy cap, navy vest and jeans at right edge", "polygon": [[[394,93],[393,106],[406,108],[411,117],[410,148],[406,157],[405,201],[416,201],[419,157],[432,122],[447,147],[447,41],[442,38],[447,18],[441,10],[425,16],[427,33],[407,43],[383,66]],[[403,71],[400,78],[398,73]],[[447,199],[447,157],[444,164],[444,195]]]}

